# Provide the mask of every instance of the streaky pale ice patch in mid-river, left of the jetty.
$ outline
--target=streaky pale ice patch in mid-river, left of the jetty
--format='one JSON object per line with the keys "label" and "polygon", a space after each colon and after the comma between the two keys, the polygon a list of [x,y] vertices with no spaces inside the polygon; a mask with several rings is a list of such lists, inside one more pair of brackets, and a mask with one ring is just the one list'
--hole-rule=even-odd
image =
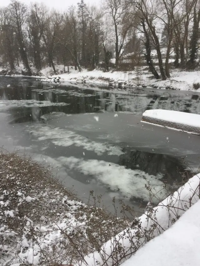
{"label": "streaky pale ice patch in mid-river, left of the jetty", "polygon": [[94,151],[98,155],[102,155],[104,152],[108,152],[108,155],[121,155],[122,150],[118,146],[111,146],[109,144],[90,141],[88,138],[78,135],[71,130],[64,130],[59,127],[53,127],[52,125],[34,124],[27,126],[27,131],[37,137],[39,141],[51,140],[53,144],[58,146],[68,147],[75,145],[83,147],[88,151]]}

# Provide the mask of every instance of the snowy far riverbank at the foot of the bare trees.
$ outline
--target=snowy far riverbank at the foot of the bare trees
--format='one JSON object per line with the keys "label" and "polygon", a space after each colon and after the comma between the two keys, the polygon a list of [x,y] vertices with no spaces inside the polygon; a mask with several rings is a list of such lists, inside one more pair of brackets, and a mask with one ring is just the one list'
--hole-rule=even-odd
{"label": "snowy far riverbank at the foot of the bare trees", "polygon": [[[148,71],[147,67],[141,67],[134,71],[112,71],[103,72],[95,69],[88,71],[83,69],[81,72],[70,67],[70,73],[62,73],[63,66],[56,66],[60,81],[82,82],[82,83],[98,83],[110,85],[113,87],[153,87],[158,89],[173,89],[173,90],[197,90],[200,91],[200,71],[180,71],[177,69],[171,70],[171,77],[167,80],[156,80]],[[46,82],[55,82],[53,78],[58,76],[53,75],[51,68],[44,68],[41,71],[42,76],[49,77],[43,79]]]}

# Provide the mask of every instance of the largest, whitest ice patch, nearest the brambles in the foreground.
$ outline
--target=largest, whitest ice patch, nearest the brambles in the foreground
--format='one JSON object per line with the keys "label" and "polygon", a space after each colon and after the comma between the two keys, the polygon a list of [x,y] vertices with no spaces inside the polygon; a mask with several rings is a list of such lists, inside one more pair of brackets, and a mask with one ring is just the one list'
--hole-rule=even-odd
{"label": "largest, whitest ice patch, nearest the brambles in the foreground", "polygon": [[149,191],[145,187],[145,185],[148,186],[148,182],[152,188],[152,193],[155,195],[153,197],[154,203],[167,196],[166,189],[163,189],[164,183],[159,180],[160,175],[148,175],[144,171],[127,169],[124,166],[106,161],[85,161],[75,157],[59,157],[58,161],[68,166],[70,170],[76,169],[85,175],[93,175],[113,191],[119,190],[126,197],[133,196],[149,201]]}

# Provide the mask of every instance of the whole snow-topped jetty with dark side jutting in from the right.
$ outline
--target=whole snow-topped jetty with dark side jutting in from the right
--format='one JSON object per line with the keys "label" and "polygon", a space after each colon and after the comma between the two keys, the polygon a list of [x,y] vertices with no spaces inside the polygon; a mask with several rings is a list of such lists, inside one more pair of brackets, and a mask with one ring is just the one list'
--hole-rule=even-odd
{"label": "whole snow-topped jetty with dark side jutting in from the right", "polygon": [[142,121],[200,134],[200,115],[171,110],[146,110]]}

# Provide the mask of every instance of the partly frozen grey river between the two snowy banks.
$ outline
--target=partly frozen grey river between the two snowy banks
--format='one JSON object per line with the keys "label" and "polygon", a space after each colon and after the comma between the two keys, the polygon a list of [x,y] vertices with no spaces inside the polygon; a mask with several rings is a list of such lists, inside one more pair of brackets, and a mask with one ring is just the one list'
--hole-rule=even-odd
{"label": "partly frozen grey river between the two snowy banks", "polygon": [[94,191],[111,211],[113,197],[142,211],[148,182],[158,192],[200,165],[200,136],[141,123],[147,109],[200,114],[200,94],[0,77],[0,146],[53,167],[84,202]]}

